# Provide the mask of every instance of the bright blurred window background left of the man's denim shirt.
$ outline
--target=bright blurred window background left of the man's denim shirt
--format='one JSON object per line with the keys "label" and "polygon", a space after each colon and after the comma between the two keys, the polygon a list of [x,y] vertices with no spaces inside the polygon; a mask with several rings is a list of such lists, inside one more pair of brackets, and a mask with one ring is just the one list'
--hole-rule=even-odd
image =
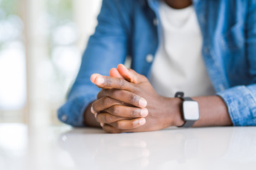
{"label": "bright blurred window background left of the man's denim shirt", "polygon": [[58,125],[102,0],[0,0],[0,123]]}

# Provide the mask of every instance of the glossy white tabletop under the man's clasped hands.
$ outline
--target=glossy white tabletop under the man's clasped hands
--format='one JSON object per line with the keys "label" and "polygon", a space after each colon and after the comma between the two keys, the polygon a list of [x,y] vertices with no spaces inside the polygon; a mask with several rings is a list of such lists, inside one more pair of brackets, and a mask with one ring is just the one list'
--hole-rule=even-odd
{"label": "glossy white tabletop under the man's clasped hands", "polygon": [[255,169],[256,128],[107,134],[0,124],[0,169]]}

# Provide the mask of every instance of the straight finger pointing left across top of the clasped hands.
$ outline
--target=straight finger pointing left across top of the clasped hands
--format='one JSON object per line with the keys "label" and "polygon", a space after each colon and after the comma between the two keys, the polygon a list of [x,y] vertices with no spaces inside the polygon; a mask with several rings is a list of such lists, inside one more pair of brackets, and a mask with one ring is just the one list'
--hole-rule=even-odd
{"label": "straight finger pointing left across top of the clasped hands", "polygon": [[122,89],[133,91],[135,86],[124,79],[117,77],[97,76],[95,84],[102,89]]}

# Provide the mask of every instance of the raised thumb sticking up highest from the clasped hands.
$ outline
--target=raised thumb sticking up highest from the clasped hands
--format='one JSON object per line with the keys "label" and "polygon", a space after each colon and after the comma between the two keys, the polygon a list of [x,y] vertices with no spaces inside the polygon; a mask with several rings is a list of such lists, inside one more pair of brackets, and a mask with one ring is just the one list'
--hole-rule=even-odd
{"label": "raised thumb sticking up highest from the clasped hands", "polygon": [[141,74],[138,74],[133,69],[127,69],[123,64],[119,64],[117,66],[117,70],[119,74],[124,77],[127,81],[138,84],[142,81],[146,81],[146,77],[142,76]]}

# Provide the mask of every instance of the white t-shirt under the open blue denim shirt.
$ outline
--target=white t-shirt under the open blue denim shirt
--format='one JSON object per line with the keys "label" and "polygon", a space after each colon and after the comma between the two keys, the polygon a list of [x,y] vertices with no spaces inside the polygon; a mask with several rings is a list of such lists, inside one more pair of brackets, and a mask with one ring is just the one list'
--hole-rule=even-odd
{"label": "white t-shirt under the open blue denim shirt", "polygon": [[151,67],[150,81],[161,96],[210,96],[215,91],[201,53],[203,38],[193,6],[174,9],[160,3],[162,39]]}

